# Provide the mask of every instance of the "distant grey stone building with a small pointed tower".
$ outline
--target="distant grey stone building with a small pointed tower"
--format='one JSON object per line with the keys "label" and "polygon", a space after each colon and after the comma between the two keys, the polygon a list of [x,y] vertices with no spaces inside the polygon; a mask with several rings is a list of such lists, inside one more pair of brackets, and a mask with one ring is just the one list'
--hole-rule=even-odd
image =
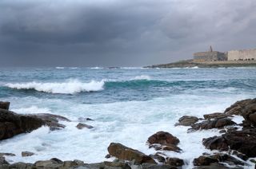
{"label": "distant grey stone building with a small pointed tower", "polygon": [[210,46],[208,52],[194,53],[194,61],[226,61],[226,54],[218,51],[213,51]]}

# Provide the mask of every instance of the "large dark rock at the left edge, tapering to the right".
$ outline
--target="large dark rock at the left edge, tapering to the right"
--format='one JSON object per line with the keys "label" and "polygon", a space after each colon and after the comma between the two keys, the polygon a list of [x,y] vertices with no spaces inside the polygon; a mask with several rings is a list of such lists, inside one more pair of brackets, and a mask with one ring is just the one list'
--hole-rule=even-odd
{"label": "large dark rock at the left edge, tapering to the right", "polygon": [[0,109],[0,140],[32,132],[44,124],[46,123],[37,117],[18,115],[15,112]]}

